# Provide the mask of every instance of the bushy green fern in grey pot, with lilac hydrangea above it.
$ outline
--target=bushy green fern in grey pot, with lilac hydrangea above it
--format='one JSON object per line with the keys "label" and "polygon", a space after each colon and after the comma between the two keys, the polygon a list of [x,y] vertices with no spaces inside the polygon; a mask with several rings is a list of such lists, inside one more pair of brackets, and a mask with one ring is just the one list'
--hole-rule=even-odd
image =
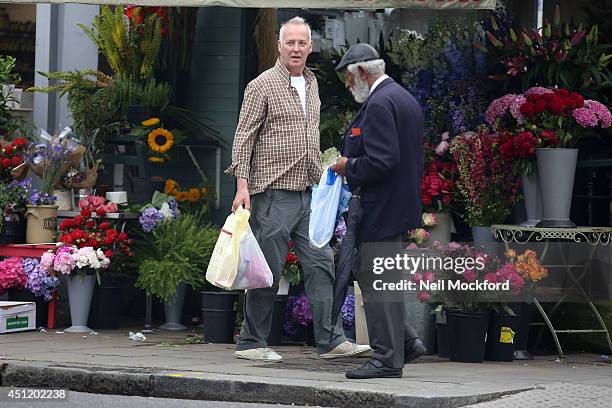
{"label": "bushy green fern in grey pot, with lilac hydrangea above it", "polygon": [[202,225],[198,214],[179,214],[173,197],[159,192],[154,194],[153,204],[142,209],[139,221],[145,234],[136,252],[140,261],[136,286],[165,302],[166,324],[162,328],[182,330],[184,288],[204,284],[217,230]]}

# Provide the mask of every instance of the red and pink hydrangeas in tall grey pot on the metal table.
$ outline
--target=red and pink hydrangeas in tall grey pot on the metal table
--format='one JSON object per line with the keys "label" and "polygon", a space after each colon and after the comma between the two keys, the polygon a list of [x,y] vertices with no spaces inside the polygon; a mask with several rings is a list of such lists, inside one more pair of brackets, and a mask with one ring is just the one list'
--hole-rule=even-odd
{"label": "red and pink hydrangeas in tall grey pot on the metal table", "polygon": [[[516,135],[506,133],[503,155],[517,160],[525,175],[537,165],[543,213],[537,226],[575,227],[569,214],[578,158],[576,145],[589,129],[609,128],[612,114],[602,103],[585,100],[577,92],[543,87],[493,101],[488,120],[499,123],[507,109],[516,121]],[[533,181],[527,183],[529,186]]]}

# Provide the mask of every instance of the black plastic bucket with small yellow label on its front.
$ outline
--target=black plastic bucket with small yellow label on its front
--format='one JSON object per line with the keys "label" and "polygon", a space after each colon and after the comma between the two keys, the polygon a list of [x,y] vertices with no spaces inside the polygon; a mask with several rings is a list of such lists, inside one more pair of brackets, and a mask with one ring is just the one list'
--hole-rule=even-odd
{"label": "black plastic bucket with small yellow label on its front", "polygon": [[489,322],[485,360],[514,360],[514,340],[518,331],[519,317],[493,314]]}

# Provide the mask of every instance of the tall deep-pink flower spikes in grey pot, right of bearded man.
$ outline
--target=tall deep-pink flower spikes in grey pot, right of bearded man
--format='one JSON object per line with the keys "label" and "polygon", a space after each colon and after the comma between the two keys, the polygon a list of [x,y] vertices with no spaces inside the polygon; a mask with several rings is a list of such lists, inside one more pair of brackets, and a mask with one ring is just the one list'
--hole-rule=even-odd
{"label": "tall deep-pink flower spikes in grey pot, right of bearded man", "polygon": [[457,164],[462,214],[477,246],[494,241],[490,226],[503,223],[518,195],[519,180],[500,153],[502,134],[484,128],[456,136],[450,151]]}

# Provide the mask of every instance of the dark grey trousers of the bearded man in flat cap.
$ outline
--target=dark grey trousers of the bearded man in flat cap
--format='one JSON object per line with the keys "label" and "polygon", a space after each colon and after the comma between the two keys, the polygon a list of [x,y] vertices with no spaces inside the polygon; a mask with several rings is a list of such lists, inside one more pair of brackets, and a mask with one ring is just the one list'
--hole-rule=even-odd
{"label": "dark grey trousers of the bearded man in flat cap", "polygon": [[361,243],[353,264],[363,295],[368,337],[374,350],[372,357],[391,368],[404,367],[404,343],[419,336],[410,325],[408,316],[404,316],[404,292],[374,290],[375,280],[400,282],[402,271],[387,270],[376,275],[372,265],[375,257],[394,257],[401,248],[401,237]]}

